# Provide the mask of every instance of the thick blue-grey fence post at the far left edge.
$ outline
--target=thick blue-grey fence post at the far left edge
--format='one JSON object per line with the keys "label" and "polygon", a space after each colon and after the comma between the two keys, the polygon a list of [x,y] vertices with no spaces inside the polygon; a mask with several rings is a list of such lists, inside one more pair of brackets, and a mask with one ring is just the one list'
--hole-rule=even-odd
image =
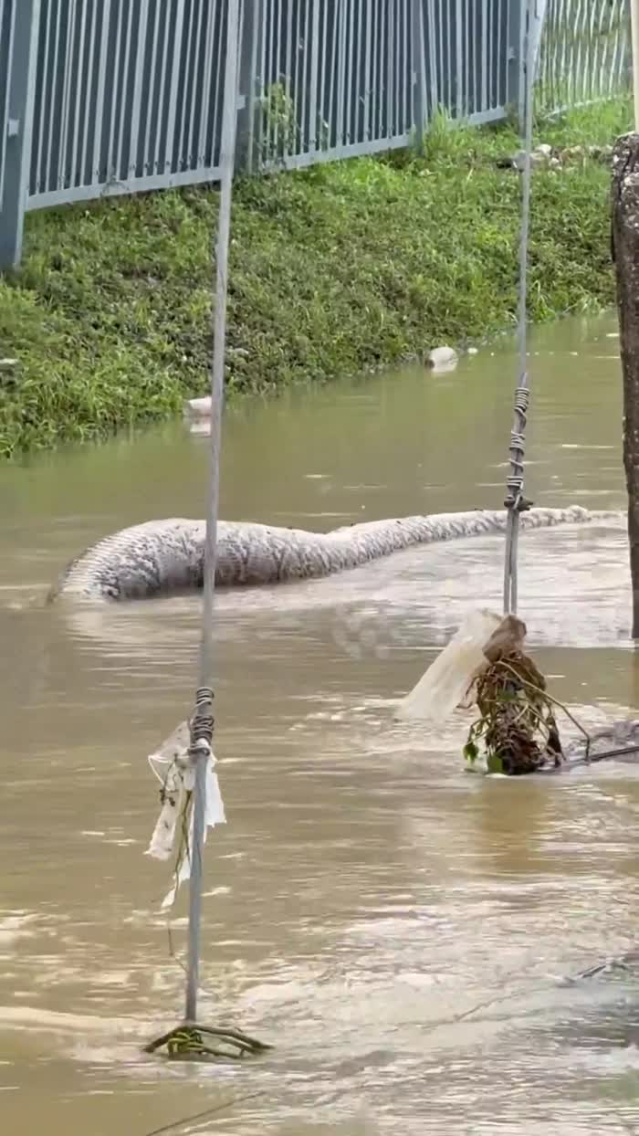
{"label": "thick blue-grey fence post at the far left edge", "polygon": [[9,44],[8,114],[7,122],[0,122],[0,130],[7,131],[0,201],[0,269],[17,268],[22,256],[39,31],[40,0],[16,0],[12,44]]}

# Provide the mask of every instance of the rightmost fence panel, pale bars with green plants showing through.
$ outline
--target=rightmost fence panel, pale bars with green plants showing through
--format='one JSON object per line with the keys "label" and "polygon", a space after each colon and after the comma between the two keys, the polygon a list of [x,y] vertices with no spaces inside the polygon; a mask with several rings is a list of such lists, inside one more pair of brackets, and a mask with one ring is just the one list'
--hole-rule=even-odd
{"label": "rightmost fence panel, pale bars with green plants showing through", "polygon": [[546,0],[538,105],[563,110],[630,86],[628,0]]}

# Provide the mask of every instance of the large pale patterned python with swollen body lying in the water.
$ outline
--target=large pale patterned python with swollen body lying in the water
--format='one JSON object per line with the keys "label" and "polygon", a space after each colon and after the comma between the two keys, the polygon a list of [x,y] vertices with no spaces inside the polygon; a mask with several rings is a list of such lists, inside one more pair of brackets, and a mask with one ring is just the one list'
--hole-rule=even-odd
{"label": "large pale patterned python with swollen body lying in the water", "polygon": [[[531,509],[524,529],[611,520],[619,513]],[[310,579],[355,568],[401,549],[455,537],[503,532],[505,510],[432,513],[347,525],[329,533],[220,521],[216,585],[275,584]],[[124,528],[73,560],[50,600],[60,594],[90,600],[134,600],[202,587],[205,524],[202,520],[150,520]]]}

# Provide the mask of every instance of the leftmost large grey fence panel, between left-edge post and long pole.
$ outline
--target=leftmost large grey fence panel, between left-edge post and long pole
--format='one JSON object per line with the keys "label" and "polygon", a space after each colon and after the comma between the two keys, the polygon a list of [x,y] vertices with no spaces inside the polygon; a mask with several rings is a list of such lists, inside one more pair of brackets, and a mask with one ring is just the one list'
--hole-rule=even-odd
{"label": "leftmost large grey fence panel, between left-edge post and long pole", "polygon": [[27,208],[215,181],[224,0],[43,0]]}

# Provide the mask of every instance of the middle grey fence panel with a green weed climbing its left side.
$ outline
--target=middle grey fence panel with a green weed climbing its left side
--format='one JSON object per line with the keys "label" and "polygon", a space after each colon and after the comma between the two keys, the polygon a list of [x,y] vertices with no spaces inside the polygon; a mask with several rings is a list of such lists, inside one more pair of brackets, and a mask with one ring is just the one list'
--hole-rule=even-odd
{"label": "middle grey fence panel with a green weed climbing its left side", "polygon": [[403,145],[413,126],[411,0],[264,0],[258,157],[300,167]]}

